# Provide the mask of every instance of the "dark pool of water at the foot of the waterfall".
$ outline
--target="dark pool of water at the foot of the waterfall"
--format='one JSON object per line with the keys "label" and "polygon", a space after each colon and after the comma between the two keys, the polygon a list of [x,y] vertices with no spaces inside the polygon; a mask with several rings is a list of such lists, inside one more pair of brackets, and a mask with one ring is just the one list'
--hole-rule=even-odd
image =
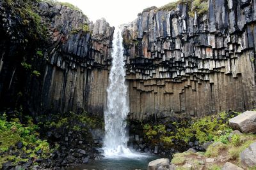
{"label": "dark pool of water at the foot of the waterfall", "polygon": [[142,157],[136,158],[104,158],[102,160],[90,160],[88,164],[82,164],[76,167],[70,167],[67,170],[83,170],[83,169],[97,169],[97,170],[147,170],[148,162],[158,159],[156,155],[143,154]]}

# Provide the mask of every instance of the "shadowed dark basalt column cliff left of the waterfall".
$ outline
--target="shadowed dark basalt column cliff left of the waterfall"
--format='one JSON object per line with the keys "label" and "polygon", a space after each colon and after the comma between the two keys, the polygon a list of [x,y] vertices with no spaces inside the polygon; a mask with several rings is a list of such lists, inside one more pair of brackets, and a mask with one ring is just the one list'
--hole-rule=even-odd
{"label": "shadowed dark basalt column cliff left of the waterfall", "polygon": [[[36,7],[30,17],[23,4],[0,4],[1,107],[14,107],[20,99],[32,113],[102,114],[114,28],[104,19],[92,24],[81,11],[61,4],[31,3]],[[36,24],[45,27],[44,38],[34,37],[38,30],[31,33]]]}

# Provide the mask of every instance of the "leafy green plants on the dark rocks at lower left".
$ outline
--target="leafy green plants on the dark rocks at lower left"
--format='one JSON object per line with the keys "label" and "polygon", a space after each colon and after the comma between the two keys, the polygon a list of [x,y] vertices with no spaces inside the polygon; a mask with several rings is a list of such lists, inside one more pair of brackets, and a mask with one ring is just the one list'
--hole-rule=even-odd
{"label": "leafy green plants on the dark rocks at lower left", "polygon": [[[39,134],[36,131],[37,125],[34,125],[27,117],[28,125],[23,125],[18,118],[12,118],[10,122],[7,121],[6,114],[0,117],[0,169],[1,165],[6,161],[11,161],[14,165],[20,161],[28,161],[28,159],[21,159],[19,156],[8,155],[10,146],[15,146],[19,141],[23,143],[22,150],[25,153],[30,153],[31,157],[37,158],[36,151],[42,149],[42,156],[49,155],[49,143],[38,138]],[[34,148],[34,149],[33,149]],[[17,149],[16,149],[17,150]]]}

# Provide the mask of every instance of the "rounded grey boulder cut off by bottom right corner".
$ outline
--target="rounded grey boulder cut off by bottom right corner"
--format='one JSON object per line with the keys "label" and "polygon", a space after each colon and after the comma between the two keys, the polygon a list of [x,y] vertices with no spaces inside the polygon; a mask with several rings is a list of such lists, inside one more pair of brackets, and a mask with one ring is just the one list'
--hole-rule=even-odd
{"label": "rounded grey boulder cut off by bottom right corner", "polygon": [[256,166],[256,142],[240,153],[240,159],[243,168]]}

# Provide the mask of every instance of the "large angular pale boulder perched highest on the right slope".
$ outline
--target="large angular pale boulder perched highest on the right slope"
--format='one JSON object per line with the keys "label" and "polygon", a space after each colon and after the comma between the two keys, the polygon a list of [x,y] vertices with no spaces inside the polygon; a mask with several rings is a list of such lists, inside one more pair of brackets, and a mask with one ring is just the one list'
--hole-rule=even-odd
{"label": "large angular pale boulder perched highest on the right slope", "polygon": [[256,132],[256,111],[245,111],[237,117],[231,118],[229,125],[232,129],[243,133]]}

